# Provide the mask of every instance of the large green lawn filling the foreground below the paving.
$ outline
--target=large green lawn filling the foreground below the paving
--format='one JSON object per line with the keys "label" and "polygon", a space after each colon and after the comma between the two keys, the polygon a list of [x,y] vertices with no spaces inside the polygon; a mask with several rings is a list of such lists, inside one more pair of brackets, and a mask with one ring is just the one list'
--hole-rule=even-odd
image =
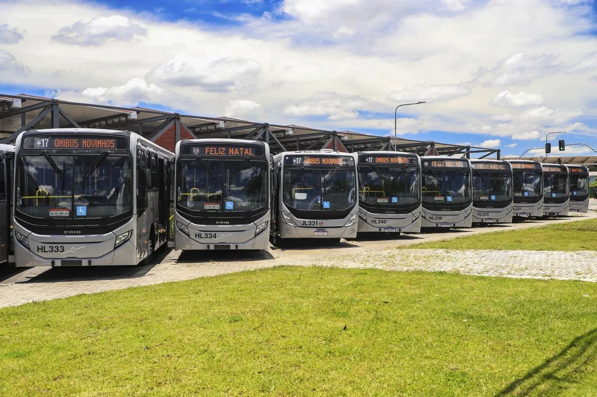
{"label": "large green lawn filling the foreground below the paving", "polygon": [[277,267],[0,309],[0,395],[595,395],[597,284]]}

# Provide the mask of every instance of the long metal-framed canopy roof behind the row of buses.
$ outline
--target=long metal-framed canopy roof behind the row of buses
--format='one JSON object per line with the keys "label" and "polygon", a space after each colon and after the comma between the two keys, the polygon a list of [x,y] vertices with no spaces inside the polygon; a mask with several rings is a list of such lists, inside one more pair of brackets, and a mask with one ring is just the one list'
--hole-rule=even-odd
{"label": "long metal-framed canopy roof behind the row of buses", "polygon": [[143,107],[75,103],[29,95],[0,94],[0,143],[11,143],[34,128],[108,128],[128,130],[174,151],[176,142],[194,138],[263,140],[272,154],[289,150],[340,152],[396,150],[418,155],[500,158],[499,149],[394,139],[352,131],[326,131],[299,125],[275,125],[233,118],[182,115]]}

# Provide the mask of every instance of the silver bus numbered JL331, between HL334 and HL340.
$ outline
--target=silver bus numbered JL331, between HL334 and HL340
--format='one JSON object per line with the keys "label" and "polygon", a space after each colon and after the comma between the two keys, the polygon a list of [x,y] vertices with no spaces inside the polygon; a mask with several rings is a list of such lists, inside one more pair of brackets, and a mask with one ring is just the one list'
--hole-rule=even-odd
{"label": "silver bus numbered JL331, between HL334 and HL340", "polygon": [[359,217],[353,155],[322,149],[273,156],[272,242],[355,238]]}

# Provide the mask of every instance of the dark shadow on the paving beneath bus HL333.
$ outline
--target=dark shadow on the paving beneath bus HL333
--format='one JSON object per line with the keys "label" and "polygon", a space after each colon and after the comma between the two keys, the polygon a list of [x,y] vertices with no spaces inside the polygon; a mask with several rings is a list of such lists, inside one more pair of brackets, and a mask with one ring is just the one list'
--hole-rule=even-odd
{"label": "dark shadow on the paving beneath bus HL333", "polygon": [[61,281],[121,280],[143,277],[170,254],[171,248],[161,247],[146,264],[137,266],[76,266],[51,267],[45,272],[18,284]]}

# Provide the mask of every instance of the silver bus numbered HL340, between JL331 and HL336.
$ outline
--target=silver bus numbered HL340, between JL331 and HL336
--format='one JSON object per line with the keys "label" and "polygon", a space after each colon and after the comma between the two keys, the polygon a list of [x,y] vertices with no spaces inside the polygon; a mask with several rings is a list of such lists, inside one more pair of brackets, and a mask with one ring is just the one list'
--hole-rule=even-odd
{"label": "silver bus numbered HL340, between JL331 and HL336", "polygon": [[355,153],[359,180],[357,232],[421,231],[421,159],[414,153]]}

